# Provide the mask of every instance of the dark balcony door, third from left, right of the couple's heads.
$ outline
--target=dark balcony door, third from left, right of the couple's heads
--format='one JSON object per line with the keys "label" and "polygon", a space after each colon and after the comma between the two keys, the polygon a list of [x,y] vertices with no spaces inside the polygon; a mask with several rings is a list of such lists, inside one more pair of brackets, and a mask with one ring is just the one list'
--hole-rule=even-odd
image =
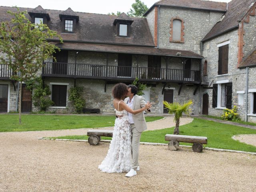
{"label": "dark balcony door, third from left, right of the couple's heads", "polygon": [[161,57],[148,56],[148,78],[160,79],[161,77]]}

